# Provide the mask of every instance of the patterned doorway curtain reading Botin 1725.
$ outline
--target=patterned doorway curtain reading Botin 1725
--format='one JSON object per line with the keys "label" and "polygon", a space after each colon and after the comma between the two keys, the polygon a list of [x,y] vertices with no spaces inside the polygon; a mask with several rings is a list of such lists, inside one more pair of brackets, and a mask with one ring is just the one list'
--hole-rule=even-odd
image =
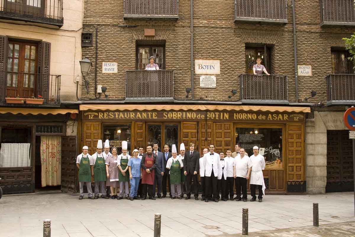
{"label": "patterned doorway curtain reading Botin 1725", "polygon": [[61,184],[61,152],[60,136],[41,136],[42,187]]}

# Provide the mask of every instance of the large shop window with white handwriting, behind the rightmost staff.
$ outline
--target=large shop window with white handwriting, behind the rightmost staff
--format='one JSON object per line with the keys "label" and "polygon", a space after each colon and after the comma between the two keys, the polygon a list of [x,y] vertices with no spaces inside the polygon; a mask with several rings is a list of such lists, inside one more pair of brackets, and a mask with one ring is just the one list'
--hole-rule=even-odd
{"label": "large shop window with white handwriting, behind the rightmost staff", "polygon": [[281,128],[236,128],[235,144],[241,144],[249,156],[253,146],[259,147],[259,154],[265,157],[266,168],[283,168]]}

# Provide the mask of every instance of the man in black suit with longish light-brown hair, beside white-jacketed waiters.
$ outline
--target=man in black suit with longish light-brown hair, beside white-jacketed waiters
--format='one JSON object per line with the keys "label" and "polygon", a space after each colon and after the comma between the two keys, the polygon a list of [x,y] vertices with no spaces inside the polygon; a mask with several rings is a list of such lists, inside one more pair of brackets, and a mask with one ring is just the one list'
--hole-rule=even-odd
{"label": "man in black suit with longish light-brown hair, beside white-jacketed waiters", "polygon": [[195,144],[190,143],[190,150],[185,153],[184,174],[186,175],[186,198],[191,198],[191,181],[193,181],[192,191],[194,192],[195,200],[198,200],[198,179],[197,172],[200,160],[200,153],[195,151]]}

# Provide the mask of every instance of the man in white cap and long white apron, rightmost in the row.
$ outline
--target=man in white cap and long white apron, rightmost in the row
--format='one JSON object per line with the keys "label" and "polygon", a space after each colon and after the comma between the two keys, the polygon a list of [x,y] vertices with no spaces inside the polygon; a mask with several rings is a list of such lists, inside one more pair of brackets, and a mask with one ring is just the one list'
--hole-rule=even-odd
{"label": "man in white cap and long white apron, rightmost in the row", "polygon": [[250,156],[250,161],[252,163],[251,173],[250,173],[250,194],[252,199],[250,201],[256,200],[256,188],[259,190],[259,203],[263,201],[263,194],[265,195],[265,183],[263,170],[265,169],[265,159],[262,155],[259,155],[259,147],[253,147],[254,154]]}

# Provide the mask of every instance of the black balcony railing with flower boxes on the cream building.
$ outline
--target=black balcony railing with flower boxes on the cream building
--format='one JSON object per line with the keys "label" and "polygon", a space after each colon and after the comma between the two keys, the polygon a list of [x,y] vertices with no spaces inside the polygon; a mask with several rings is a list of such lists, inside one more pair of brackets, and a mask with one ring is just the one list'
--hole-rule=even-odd
{"label": "black balcony railing with flower boxes on the cream building", "polygon": [[[43,104],[60,104],[60,75],[0,71],[6,82],[5,97],[42,96]],[[1,98],[4,101],[5,98]]]}

